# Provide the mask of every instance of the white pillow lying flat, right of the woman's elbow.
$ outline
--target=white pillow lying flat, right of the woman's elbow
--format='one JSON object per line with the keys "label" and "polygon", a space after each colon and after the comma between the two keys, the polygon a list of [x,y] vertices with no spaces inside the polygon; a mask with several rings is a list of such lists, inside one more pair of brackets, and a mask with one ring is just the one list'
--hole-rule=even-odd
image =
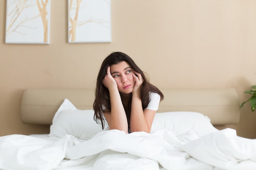
{"label": "white pillow lying flat, right of the woman's elbow", "polygon": [[158,129],[167,129],[174,135],[181,135],[193,130],[199,137],[216,132],[209,117],[197,112],[164,112],[156,113],[151,132]]}

